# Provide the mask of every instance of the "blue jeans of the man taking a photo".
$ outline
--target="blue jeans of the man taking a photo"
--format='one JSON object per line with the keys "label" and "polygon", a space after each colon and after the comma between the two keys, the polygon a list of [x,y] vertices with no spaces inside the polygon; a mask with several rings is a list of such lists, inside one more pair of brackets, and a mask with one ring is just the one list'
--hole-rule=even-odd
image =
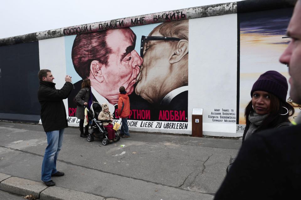
{"label": "blue jeans of the man taking a photo", "polygon": [[64,129],[46,132],[47,147],[42,164],[42,181],[50,181],[51,175],[56,173],[56,159],[62,148]]}

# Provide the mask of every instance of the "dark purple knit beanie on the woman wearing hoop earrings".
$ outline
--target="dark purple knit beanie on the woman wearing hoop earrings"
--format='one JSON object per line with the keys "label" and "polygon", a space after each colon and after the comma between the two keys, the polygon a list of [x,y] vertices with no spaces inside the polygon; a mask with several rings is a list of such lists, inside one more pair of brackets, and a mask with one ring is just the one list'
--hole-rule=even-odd
{"label": "dark purple knit beanie on the woman wearing hoop earrings", "polygon": [[286,101],[288,93],[288,82],[286,78],[277,71],[267,71],[259,76],[251,90],[251,97],[254,91],[266,91],[276,95],[283,102]]}

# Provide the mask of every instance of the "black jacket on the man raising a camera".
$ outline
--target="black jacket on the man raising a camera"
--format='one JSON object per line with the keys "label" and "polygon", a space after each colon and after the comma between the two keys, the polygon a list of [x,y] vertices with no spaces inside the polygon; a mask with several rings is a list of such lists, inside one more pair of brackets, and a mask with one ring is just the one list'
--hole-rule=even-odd
{"label": "black jacket on the man raising a camera", "polygon": [[63,99],[70,94],[72,84],[66,82],[61,90],[55,89],[55,83],[40,81],[38,100],[41,104],[41,121],[45,132],[68,127]]}

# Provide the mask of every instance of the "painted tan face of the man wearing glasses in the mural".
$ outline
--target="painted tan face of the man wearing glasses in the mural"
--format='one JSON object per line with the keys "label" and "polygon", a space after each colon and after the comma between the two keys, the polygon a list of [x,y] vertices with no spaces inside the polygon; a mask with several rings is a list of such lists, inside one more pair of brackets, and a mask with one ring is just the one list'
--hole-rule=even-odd
{"label": "painted tan face of the man wearing glasses in the mural", "polygon": [[[155,31],[150,36],[162,37],[158,31]],[[166,90],[172,84],[170,79],[168,79],[172,71],[169,59],[174,49],[172,45],[176,44],[176,41],[145,41],[143,64],[140,67],[140,74],[137,77],[135,89],[137,95],[141,95],[142,98],[151,103],[161,100],[162,88],[165,87],[163,90]]]}

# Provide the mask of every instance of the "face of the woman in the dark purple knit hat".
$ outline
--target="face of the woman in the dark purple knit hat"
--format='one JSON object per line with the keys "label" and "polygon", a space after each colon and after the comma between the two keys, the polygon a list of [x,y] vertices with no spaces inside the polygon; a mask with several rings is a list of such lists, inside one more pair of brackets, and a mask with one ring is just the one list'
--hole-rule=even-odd
{"label": "face of the woman in the dark purple knit hat", "polygon": [[266,91],[254,91],[252,96],[252,106],[258,115],[270,113],[271,97]]}

